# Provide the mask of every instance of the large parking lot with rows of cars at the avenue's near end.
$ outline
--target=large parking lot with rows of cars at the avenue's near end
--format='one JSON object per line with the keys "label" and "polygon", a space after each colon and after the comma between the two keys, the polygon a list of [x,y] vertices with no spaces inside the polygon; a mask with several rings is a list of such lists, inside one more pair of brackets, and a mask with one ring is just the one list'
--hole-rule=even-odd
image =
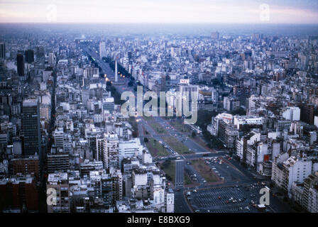
{"label": "large parking lot with rows of cars at the avenue's near end", "polygon": [[[197,212],[231,213],[260,212],[255,206],[259,203],[262,184],[234,185],[211,189],[192,190],[187,199]],[[190,195],[189,195],[190,194]],[[271,212],[270,209],[265,209]],[[263,212],[263,211],[262,211]]]}

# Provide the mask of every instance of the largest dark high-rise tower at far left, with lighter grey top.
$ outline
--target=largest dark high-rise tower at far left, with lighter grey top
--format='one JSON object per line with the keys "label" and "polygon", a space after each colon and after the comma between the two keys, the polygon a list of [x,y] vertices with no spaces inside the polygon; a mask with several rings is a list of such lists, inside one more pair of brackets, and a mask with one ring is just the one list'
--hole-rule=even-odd
{"label": "largest dark high-rise tower at far left, with lighter grey top", "polygon": [[[24,155],[40,153],[40,105],[36,99],[26,99],[22,106],[22,128],[24,134]],[[40,156],[41,158],[41,156]]]}

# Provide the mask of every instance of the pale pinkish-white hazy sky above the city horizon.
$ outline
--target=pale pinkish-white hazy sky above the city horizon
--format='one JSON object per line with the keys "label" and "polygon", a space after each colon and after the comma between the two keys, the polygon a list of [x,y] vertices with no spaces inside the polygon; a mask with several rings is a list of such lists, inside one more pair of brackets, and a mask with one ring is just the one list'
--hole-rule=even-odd
{"label": "pale pinkish-white hazy sky above the city horizon", "polygon": [[318,23],[317,0],[0,0],[1,23]]}

